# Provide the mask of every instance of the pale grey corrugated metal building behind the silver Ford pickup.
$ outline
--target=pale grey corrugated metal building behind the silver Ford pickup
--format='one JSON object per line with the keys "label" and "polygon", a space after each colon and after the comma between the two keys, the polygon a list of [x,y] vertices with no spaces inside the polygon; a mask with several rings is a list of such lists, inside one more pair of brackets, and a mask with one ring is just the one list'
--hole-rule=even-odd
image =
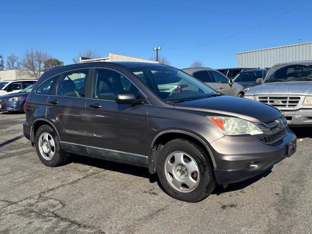
{"label": "pale grey corrugated metal building behind the silver Ford pickup", "polygon": [[275,63],[312,60],[312,41],[238,52],[237,67],[271,67]]}

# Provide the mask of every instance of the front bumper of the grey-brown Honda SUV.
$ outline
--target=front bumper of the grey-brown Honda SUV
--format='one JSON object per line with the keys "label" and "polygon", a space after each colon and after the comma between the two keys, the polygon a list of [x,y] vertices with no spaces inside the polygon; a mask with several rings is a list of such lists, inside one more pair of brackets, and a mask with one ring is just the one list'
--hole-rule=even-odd
{"label": "front bumper of the grey-brown Honda SUV", "polygon": [[[254,177],[286,158],[288,143],[296,139],[290,129],[287,131],[278,144],[264,144],[252,136],[224,136],[212,142],[217,183],[235,183]],[[247,169],[249,163],[256,167]]]}

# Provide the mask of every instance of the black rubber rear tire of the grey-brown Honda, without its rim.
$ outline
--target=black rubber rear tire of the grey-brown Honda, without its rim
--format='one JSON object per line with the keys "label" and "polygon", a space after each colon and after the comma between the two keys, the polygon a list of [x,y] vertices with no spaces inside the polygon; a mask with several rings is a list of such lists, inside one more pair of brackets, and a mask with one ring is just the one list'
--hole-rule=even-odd
{"label": "black rubber rear tire of the grey-brown Honda, without its rim", "polygon": [[[54,140],[55,153],[54,153],[53,158],[51,158],[50,160],[46,160],[40,153],[39,137],[41,136],[42,133],[50,134]],[[36,144],[36,151],[37,151],[38,157],[44,165],[48,167],[57,167],[66,162],[68,154],[62,149],[60,145],[60,140],[58,139],[55,130],[50,125],[44,124],[39,127],[35,136],[35,144]]]}

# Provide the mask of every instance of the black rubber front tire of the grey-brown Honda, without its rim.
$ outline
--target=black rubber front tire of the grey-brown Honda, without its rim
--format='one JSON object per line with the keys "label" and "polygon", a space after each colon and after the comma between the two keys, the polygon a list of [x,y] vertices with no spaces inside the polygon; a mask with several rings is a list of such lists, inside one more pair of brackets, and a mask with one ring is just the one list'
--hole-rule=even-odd
{"label": "black rubber front tire of the grey-brown Honda, without its rim", "polygon": [[[176,190],[165,176],[164,164],[165,160],[171,153],[175,151],[183,151],[189,154],[197,163],[199,168],[200,179],[195,190],[189,193],[183,193]],[[186,139],[174,139],[163,146],[160,151],[157,164],[157,173],[160,183],[167,193],[181,201],[199,202],[209,196],[216,186],[216,179],[213,173],[212,165],[202,150],[197,144]]]}

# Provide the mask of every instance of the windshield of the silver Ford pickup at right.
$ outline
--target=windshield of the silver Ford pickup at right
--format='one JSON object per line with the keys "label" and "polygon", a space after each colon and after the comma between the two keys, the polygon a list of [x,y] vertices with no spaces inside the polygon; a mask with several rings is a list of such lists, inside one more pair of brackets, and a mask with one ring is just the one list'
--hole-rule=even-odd
{"label": "windshield of the silver Ford pickup at right", "polygon": [[265,82],[312,81],[312,65],[283,66],[268,74]]}

